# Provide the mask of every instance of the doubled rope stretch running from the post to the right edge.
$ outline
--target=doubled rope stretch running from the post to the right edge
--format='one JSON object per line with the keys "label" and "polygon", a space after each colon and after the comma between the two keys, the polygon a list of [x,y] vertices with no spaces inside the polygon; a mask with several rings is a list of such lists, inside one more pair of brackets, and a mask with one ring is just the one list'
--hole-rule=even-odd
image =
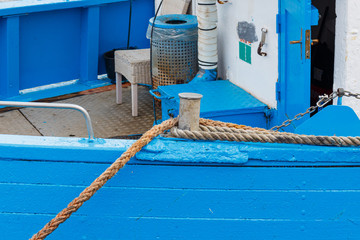
{"label": "doubled rope stretch running from the post to the right edge", "polygon": [[[192,140],[220,140],[236,142],[287,143],[316,146],[355,147],[360,146],[360,137],[336,137],[300,135],[286,132],[275,132],[243,125],[226,124],[216,121],[201,120],[200,131],[171,129],[171,136]],[[235,126],[235,127],[234,127]]]}

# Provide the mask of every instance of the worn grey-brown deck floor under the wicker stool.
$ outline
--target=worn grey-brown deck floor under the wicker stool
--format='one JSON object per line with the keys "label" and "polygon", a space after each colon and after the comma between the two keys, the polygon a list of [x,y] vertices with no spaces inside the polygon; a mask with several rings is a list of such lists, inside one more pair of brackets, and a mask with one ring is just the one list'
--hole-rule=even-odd
{"label": "worn grey-brown deck floor under the wicker stool", "polygon": [[[58,101],[78,104],[90,114],[95,137],[116,138],[142,134],[153,125],[152,97],[139,86],[139,116],[131,115],[130,87],[123,88],[123,104],[115,102],[115,90]],[[22,108],[0,113],[0,134],[87,137],[85,120],[73,110]]]}

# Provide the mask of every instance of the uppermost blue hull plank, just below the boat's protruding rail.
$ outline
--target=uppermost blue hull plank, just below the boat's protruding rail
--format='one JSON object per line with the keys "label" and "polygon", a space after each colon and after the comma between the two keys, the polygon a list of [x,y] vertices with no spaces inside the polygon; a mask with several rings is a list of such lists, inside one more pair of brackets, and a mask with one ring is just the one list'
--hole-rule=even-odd
{"label": "uppermost blue hull plank, just below the boat's protruding rail", "polygon": [[[85,187],[109,164],[0,161],[0,183]],[[61,171],[60,171],[61,170]],[[228,190],[360,190],[358,167],[271,168],[127,165],[108,187]]]}

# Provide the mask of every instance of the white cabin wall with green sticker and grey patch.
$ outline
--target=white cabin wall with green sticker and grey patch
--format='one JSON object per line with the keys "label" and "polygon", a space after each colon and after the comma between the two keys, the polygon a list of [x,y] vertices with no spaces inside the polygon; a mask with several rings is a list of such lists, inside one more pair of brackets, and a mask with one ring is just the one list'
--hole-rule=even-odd
{"label": "white cabin wall with green sticker and grey patch", "polygon": [[[242,87],[253,96],[276,108],[275,85],[278,79],[278,34],[276,14],[278,0],[232,0],[218,5],[219,16],[219,75]],[[239,37],[237,25],[240,21],[253,23],[258,41],[252,44],[252,63],[239,59]],[[261,40],[261,29],[267,28],[266,45],[261,57],[257,48]]]}

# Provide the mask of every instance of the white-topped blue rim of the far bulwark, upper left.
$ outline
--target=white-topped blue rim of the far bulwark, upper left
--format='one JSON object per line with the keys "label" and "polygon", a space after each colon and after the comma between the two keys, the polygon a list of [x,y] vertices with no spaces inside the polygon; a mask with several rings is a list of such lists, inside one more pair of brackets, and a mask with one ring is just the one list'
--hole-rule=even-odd
{"label": "white-topped blue rim of the far bulwark, upper left", "polygon": [[91,7],[129,0],[23,0],[0,3],[0,16],[28,14],[60,9]]}

